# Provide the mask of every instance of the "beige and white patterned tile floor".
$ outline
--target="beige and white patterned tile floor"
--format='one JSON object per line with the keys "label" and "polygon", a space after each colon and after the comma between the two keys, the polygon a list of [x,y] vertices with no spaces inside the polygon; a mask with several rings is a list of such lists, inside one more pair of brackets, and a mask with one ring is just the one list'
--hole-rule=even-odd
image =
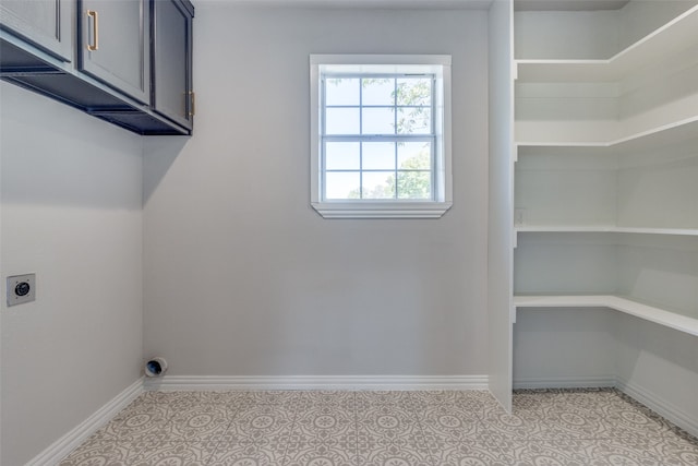
{"label": "beige and white patterned tile floor", "polygon": [[146,392],[62,466],[698,465],[698,439],[614,390]]}

